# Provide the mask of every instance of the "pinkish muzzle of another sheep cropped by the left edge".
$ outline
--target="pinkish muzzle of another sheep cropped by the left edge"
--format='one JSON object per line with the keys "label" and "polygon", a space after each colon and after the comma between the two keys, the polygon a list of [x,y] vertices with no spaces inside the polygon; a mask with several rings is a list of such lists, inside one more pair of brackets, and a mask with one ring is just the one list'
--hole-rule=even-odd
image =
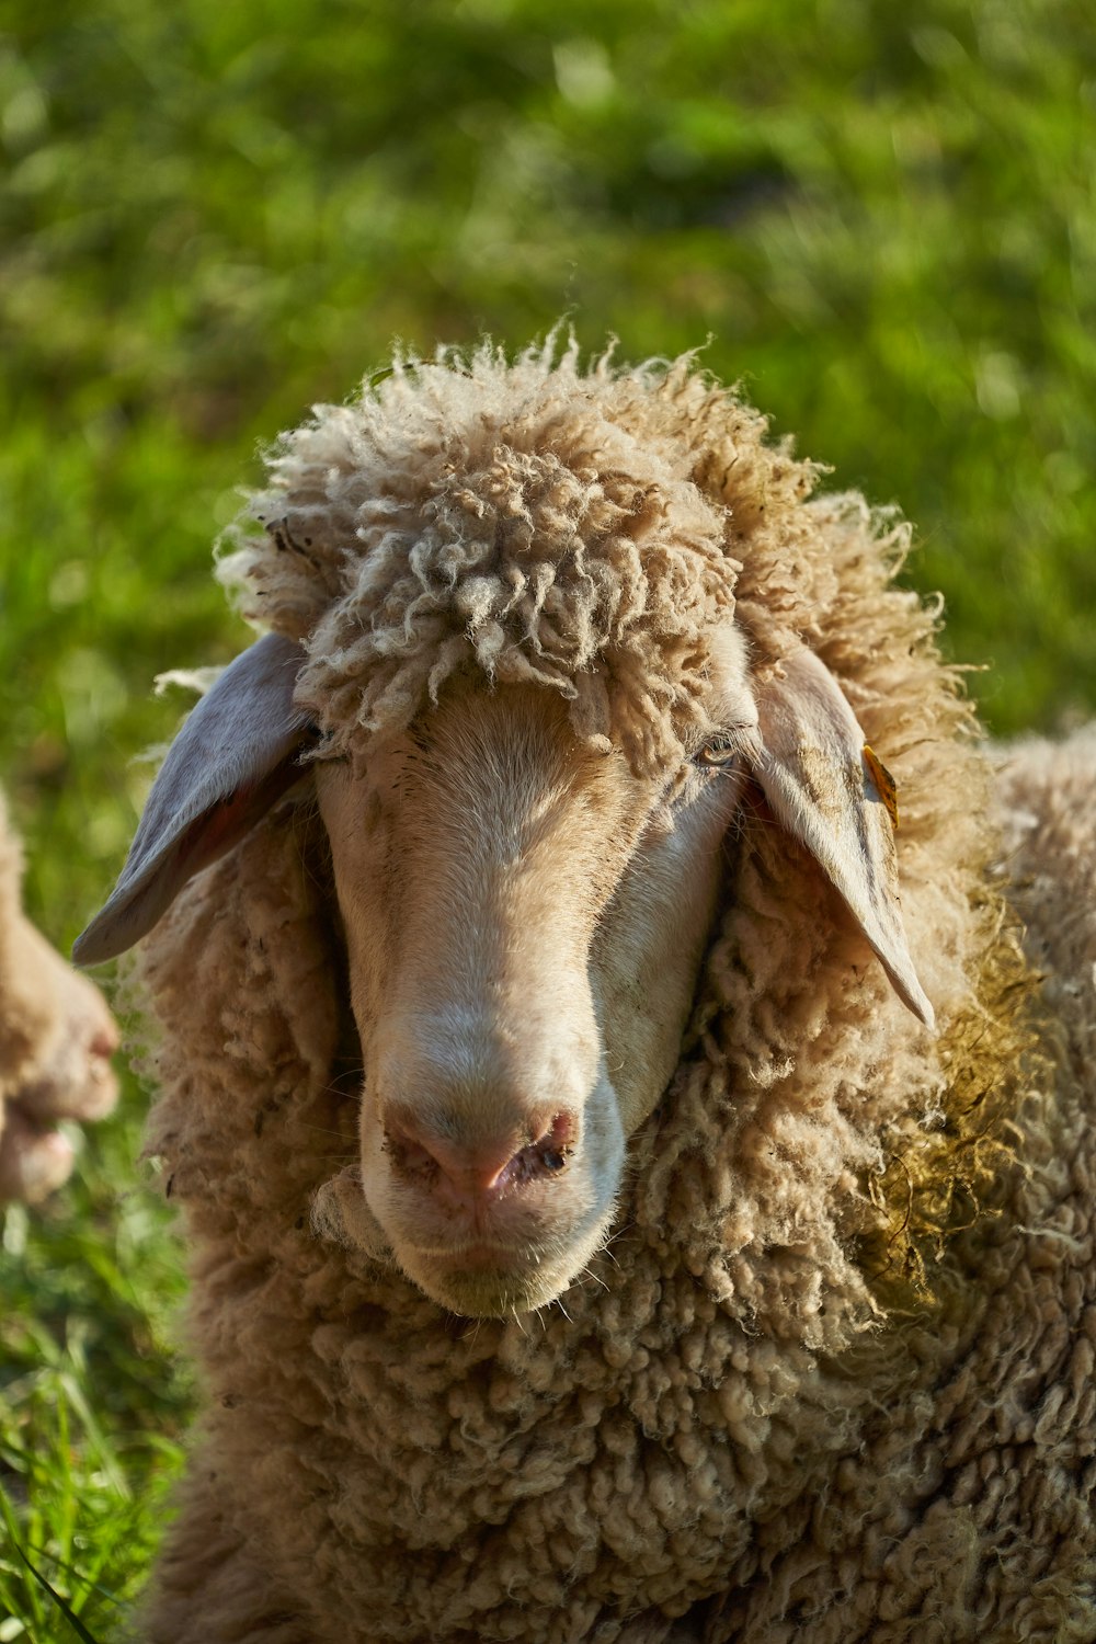
{"label": "pinkish muzzle of another sheep cropped by the left edge", "polygon": [[21,875],[0,799],[0,1205],[61,1187],[74,1152],[58,1120],[102,1118],[118,1093],[110,1011],[25,917]]}

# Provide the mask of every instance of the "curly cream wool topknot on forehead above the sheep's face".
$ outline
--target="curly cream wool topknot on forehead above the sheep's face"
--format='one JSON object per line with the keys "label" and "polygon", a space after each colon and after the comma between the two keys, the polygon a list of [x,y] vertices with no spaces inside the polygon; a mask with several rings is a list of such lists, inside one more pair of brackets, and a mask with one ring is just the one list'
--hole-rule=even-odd
{"label": "curly cream wool topknot on forehead above the sheep's face", "polygon": [[764,434],[688,357],[583,372],[549,339],[398,358],[281,436],[220,575],[306,644],[299,697],[335,748],[475,667],[559,690],[580,737],[654,766],[703,725],[736,584],[772,584],[781,520],[784,557],[802,536],[813,469]]}

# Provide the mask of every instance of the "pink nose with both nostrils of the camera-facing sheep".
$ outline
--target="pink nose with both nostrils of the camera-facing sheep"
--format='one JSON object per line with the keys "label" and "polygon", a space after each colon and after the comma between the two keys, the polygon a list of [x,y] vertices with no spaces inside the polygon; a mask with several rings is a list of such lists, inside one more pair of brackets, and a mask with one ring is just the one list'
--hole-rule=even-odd
{"label": "pink nose with both nostrils of the camera-facing sheep", "polygon": [[516,1134],[460,1141],[417,1115],[401,1110],[385,1121],[385,1148],[393,1167],[427,1192],[457,1200],[493,1200],[549,1180],[567,1169],[578,1139],[578,1120],[567,1110],[534,1121]]}

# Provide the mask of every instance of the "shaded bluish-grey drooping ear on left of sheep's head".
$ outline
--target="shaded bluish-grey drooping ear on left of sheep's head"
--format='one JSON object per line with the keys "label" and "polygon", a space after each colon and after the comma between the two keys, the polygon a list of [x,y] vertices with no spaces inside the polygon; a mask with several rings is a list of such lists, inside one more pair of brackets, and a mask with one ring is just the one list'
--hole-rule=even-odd
{"label": "shaded bluish-grey drooping ear on left of sheep's head", "polygon": [[301,776],[311,725],[292,702],[301,646],[269,633],[217,679],[168,750],[113,896],[72,949],[97,965],[133,947],[192,875],[248,834]]}

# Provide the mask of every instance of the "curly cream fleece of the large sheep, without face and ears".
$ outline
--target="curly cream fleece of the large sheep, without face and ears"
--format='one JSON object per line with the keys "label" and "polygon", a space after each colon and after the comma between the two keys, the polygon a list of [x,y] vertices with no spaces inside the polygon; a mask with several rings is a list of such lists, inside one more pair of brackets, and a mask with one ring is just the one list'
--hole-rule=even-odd
{"label": "curly cream fleece of the large sheep, without face and ears", "polygon": [[1091,894],[1093,829],[1066,883],[1055,784],[1032,801],[1065,993],[1025,1064],[989,778],[933,613],[892,584],[904,528],[812,498],[764,431],[688,360],[398,365],[281,441],[266,533],[222,570],[306,641],[337,746],[478,669],[541,679],[642,768],[700,712],[716,620],[759,672],[805,640],[897,779],[940,1037],[754,802],[610,1248],[565,1310],[455,1320],[311,1231],[355,1156],[355,1037],[322,830],[284,804],[143,957],[209,1389],[151,1639],[1096,1636],[1096,926],[1065,968],[1053,927]]}

